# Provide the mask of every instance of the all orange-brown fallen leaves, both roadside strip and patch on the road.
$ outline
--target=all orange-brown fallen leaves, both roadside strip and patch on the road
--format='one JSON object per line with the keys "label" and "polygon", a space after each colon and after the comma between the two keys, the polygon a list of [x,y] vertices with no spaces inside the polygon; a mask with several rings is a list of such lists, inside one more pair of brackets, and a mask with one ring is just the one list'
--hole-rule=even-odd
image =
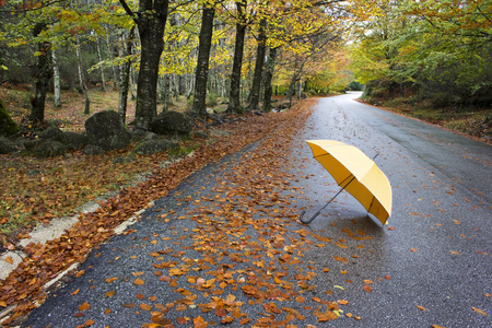
{"label": "all orange-brown fallen leaves, both roadside strip and patch on the road", "polygon": [[[210,190],[210,195],[202,195],[201,199],[184,199],[183,202],[189,202],[186,215],[176,216],[173,211],[156,215],[155,220],[169,224],[173,220],[190,220],[195,226],[181,232],[174,231],[172,238],[165,236],[161,238],[162,242],[157,238],[159,234],[154,234],[152,238],[155,243],[149,241],[145,246],[150,244],[157,247],[160,243],[168,246],[149,253],[155,260],[153,268],[147,268],[154,270],[153,277],[137,278],[129,283],[138,288],[148,283],[167,283],[174,289],[175,301],[153,296],[155,303],[152,303],[152,307],[143,297],[137,297],[142,300],[140,305],[131,303],[130,307],[130,303],[124,303],[121,306],[130,311],[134,306],[151,311],[151,323],[143,327],[173,327],[174,324],[188,321],[192,321],[196,327],[207,327],[208,323],[212,325],[218,321],[279,327],[294,323],[303,326],[306,316],[318,323],[339,318],[343,313],[340,305],[347,305],[349,301],[330,300],[332,292],[329,290],[323,293],[318,291],[317,294],[323,296],[308,297],[309,292],[315,291],[314,281],[320,279],[319,276],[337,274],[340,271],[317,268],[316,263],[303,260],[305,253],[318,249],[316,245],[319,242],[331,245],[331,239],[298,227],[295,223],[298,209],[293,203],[297,189],[292,188],[291,180],[298,180],[300,177],[290,172],[286,160],[290,148],[294,147],[293,137],[308,117],[313,105],[314,101],[305,101],[290,112],[250,117],[246,122],[235,124],[230,129],[231,136],[216,143],[202,145],[192,157],[154,172],[145,181],[125,188],[103,202],[102,208],[94,213],[81,215],[79,224],[60,238],[46,245],[27,246],[30,259],[25,259],[0,285],[0,302],[16,305],[8,323],[28,313],[36,303],[43,303],[46,298],[44,283],[66,270],[70,263],[83,261],[131,213],[147,207],[151,200],[167,196],[207,163],[233,154],[265,137],[254,151],[243,154],[239,165],[223,165],[222,175],[215,177],[216,187]],[[271,133],[273,130],[274,133]],[[171,226],[169,231],[173,230],[174,226]],[[348,234],[358,243],[363,239],[351,232]],[[187,246],[184,243],[188,243]],[[347,248],[344,241],[335,244],[338,244],[335,247]],[[187,251],[192,251],[194,257],[188,257]],[[342,259],[339,256],[337,258]],[[338,266],[344,263],[347,261]],[[143,268],[140,270],[144,271]],[[25,283],[33,278],[36,278],[35,283]],[[118,277],[101,279],[110,283]],[[333,284],[333,288],[344,291],[339,285]],[[248,302],[236,301],[236,293],[246,295]],[[144,295],[143,292],[139,294]],[[113,293],[101,295],[108,296],[116,297]],[[293,302],[297,305],[293,306]],[[254,311],[242,309],[244,306],[253,307]],[[201,316],[192,315],[197,307]],[[112,308],[106,312],[113,313]],[[250,314],[255,317],[250,317]],[[361,319],[352,314],[347,317]]]}

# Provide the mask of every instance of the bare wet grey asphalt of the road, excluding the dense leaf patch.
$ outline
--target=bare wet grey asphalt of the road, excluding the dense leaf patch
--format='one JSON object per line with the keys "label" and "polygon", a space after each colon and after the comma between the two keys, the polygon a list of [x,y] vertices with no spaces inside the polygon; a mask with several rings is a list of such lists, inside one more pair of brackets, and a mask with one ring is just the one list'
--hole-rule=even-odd
{"label": "bare wet grey asphalt of the road, excluding the dense leaf patch", "polygon": [[[315,288],[302,290],[300,295],[306,300],[344,300],[348,304],[340,306],[341,317],[337,320],[319,323],[312,315],[316,306],[307,301],[301,304],[298,300],[272,298],[267,303],[278,303],[279,308],[293,308],[296,316],[304,315],[290,323],[296,327],[492,327],[491,147],[362,105],[354,101],[356,96],[348,94],[319,101],[295,136],[291,154],[283,159],[292,184],[290,190],[281,192],[290,195],[290,207],[295,211],[307,209],[307,214],[313,213],[338,191],[338,187],[313,160],[304,140],[335,139],[350,143],[370,157],[379,153],[376,162],[388,176],[394,192],[389,225],[382,226],[377,220],[367,216],[345,192],[309,226],[292,220],[279,224],[285,239],[296,237],[305,242],[300,246],[303,251],[301,262],[285,263],[284,270],[295,268],[296,272],[301,270],[307,276],[311,271],[316,272],[308,280]],[[87,320],[94,321],[92,327],[142,327],[151,321],[152,312],[163,312],[157,303],[164,308],[173,307],[165,317],[175,327],[192,327],[192,320],[198,316],[209,323],[214,318],[218,321],[213,311],[203,313],[198,305],[209,302],[211,295],[189,289],[198,298],[184,302],[186,294],[176,289],[188,289],[187,278],[178,276],[175,286],[160,281],[155,278],[155,266],[152,266],[155,257],[149,254],[161,251],[159,256],[167,263],[183,261],[185,257],[185,261],[188,259],[203,267],[203,254],[194,249],[189,238],[199,224],[190,220],[190,209],[198,208],[194,200],[202,197],[200,206],[209,200],[211,209],[216,207],[218,211],[248,214],[250,209],[245,203],[238,201],[224,207],[223,202],[216,201],[222,198],[213,197],[226,192],[222,187],[235,184],[224,172],[241,165],[244,156],[258,147],[251,144],[243,152],[206,167],[175,192],[156,200],[155,207],[145,211],[143,219],[130,227],[132,233],[115,236],[95,249],[82,265],[85,273],[72,278],[51,295],[32,313],[23,327],[78,327],[92,324]],[[285,208],[280,207],[280,210]],[[261,219],[261,212],[254,213],[254,219]],[[277,229],[274,224],[269,227]],[[313,243],[311,235],[300,235],[297,232],[303,227],[318,239]],[[235,227],[227,229],[235,233]],[[261,232],[245,229],[253,239],[265,237]],[[319,241],[326,245],[311,247]],[[260,253],[270,248],[258,249],[258,256],[253,258],[259,259]],[[335,257],[345,260],[339,261]],[[232,260],[229,253],[215,259],[231,266],[230,269],[236,266],[233,277],[236,281],[247,277],[250,262],[236,263],[237,259]],[[219,265],[208,262],[209,270]],[[257,267],[261,266],[258,263]],[[159,270],[168,272],[167,269]],[[188,276],[211,278],[201,273],[207,270],[195,269]],[[112,281],[112,278],[116,279]],[[144,281],[143,285],[134,284],[139,278]],[[235,301],[244,302],[241,306],[243,317],[251,319],[245,326],[253,326],[259,317],[267,315],[270,318],[277,315],[280,320],[288,312],[278,314],[271,312],[271,307],[249,304],[251,297],[231,283],[225,290],[220,297],[233,294]],[[79,309],[84,302],[90,307]],[[151,305],[152,311],[142,307],[142,303]],[[351,317],[345,316],[349,313]],[[178,325],[178,318],[188,318],[188,321]],[[229,324],[229,327],[239,326],[238,318]]]}

